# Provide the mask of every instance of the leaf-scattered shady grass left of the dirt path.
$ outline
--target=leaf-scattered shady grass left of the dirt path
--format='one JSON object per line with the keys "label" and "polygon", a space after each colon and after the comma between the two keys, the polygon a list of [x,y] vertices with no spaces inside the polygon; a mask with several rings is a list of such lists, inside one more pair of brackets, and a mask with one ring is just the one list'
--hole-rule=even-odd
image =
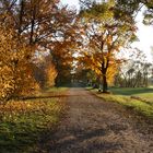
{"label": "leaf-scattered shady grass left of the dirt path", "polygon": [[[49,92],[42,96],[47,94],[50,96]],[[64,103],[59,97],[10,101],[0,105],[0,152],[37,152],[42,137],[56,128],[63,109]]]}

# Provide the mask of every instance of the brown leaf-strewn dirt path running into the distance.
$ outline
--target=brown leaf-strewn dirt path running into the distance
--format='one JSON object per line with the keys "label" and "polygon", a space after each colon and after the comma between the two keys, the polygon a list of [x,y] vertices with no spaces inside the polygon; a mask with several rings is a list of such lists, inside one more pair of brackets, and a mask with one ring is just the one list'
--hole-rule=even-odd
{"label": "brown leaf-strewn dirt path running into the distance", "polygon": [[118,104],[83,89],[71,89],[69,110],[51,136],[49,153],[153,153],[153,134],[144,134]]}

